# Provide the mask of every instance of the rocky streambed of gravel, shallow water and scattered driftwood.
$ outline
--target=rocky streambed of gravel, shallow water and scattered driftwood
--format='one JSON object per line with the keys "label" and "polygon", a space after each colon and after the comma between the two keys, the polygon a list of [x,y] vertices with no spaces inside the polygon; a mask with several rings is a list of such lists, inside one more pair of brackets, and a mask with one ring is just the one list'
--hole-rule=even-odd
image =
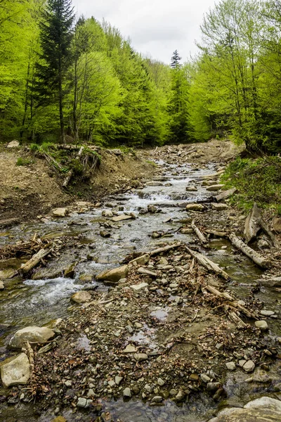
{"label": "rocky streambed of gravel, shallow water and scattered driftwood", "polygon": [[17,329],[63,321],[48,324],[41,344],[22,337],[34,347],[33,357],[23,344],[30,381],[0,390],[0,419],[203,422],[223,407],[281,398],[280,249],[264,233],[268,247],[254,245],[268,269],[237,251],[228,235],[242,234],[246,215],[227,201],[214,207],[219,191],[208,190],[221,189],[235,153],[219,141],[145,151],[158,164],[145,185],[6,232],[12,245],[36,230],[34,243],[50,242],[54,254],[23,284],[4,279],[3,357],[20,352],[6,349]]}

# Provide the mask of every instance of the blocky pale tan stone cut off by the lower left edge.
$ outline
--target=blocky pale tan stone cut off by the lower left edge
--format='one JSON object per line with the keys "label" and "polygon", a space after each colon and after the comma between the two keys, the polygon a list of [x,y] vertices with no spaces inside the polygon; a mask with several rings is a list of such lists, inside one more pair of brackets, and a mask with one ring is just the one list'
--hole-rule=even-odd
{"label": "blocky pale tan stone cut off by the lower left edge", "polygon": [[6,359],[1,364],[1,380],[4,388],[26,384],[30,379],[30,361],[25,353]]}

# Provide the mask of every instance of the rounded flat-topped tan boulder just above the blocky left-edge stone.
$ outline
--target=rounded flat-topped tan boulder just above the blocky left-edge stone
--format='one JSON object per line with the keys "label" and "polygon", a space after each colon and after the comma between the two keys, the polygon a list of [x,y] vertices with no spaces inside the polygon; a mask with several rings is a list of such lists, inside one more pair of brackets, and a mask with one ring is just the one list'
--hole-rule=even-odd
{"label": "rounded flat-topped tan boulder just above the blocky left-edge stone", "polygon": [[25,342],[46,343],[55,337],[53,330],[47,327],[30,326],[17,331],[9,342],[13,349],[20,349],[25,346]]}

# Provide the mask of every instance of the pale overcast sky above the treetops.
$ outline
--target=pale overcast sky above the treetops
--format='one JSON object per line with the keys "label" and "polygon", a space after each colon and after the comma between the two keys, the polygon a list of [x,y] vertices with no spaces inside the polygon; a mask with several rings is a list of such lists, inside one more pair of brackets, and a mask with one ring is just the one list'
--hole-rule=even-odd
{"label": "pale overcast sky above the treetops", "polygon": [[130,37],[136,51],[170,63],[174,50],[183,61],[197,52],[203,14],[214,0],[72,0],[77,15],[105,18]]}

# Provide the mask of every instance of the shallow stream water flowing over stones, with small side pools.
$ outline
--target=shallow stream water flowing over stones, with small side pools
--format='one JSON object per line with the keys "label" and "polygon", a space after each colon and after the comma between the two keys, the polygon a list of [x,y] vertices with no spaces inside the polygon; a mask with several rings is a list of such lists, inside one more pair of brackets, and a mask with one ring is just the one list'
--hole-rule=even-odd
{"label": "shallow stream water flowing over stones, with small side pools", "polygon": [[[0,245],[28,240],[34,236],[34,233],[37,233],[41,238],[46,236],[50,239],[70,236],[76,242],[76,247],[71,250],[63,250],[58,261],[50,262],[48,267],[50,269],[63,269],[72,262],[79,262],[75,279],[65,279],[60,274],[51,279],[26,280],[22,283],[19,278],[15,278],[1,292],[0,353],[2,357],[0,359],[6,357],[8,339],[19,328],[29,325],[44,325],[52,319],[64,318],[69,315],[73,306],[70,303],[70,295],[75,291],[81,290],[81,288],[105,290],[106,287],[102,283],[81,281],[83,274],[94,276],[100,271],[115,267],[127,254],[134,250],[155,248],[159,239],[152,239],[149,236],[153,231],[167,232],[162,241],[192,240],[190,235],[176,231],[186,219],[185,205],[206,200],[211,195],[200,184],[200,181],[202,177],[214,174],[217,166],[209,164],[202,169],[197,169],[188,164],[169,165],[162,161],[157,162],[157,164],[164,167],[162,177],[158,177],[155,181],[155,185],[158,186],[135,189],[132,193],[109,198],[108,202],[118,206],[119,210],[135,212],[137,215],[139,210],[148,205],[156,205],[161,208],[162,212],[138,215],[137,219],[120,224],[121,228],[110,229],[110,238],[100,236],[100,223],[108,222],[108,219],[101,217],[102,209],[98,208],[84,214],[73,212],[72,215],[63,219],[52,219],[36,224],[22,224],[0,233]],[[191,181],[192,185],[197,186],[196,192],[185,191],[185,187]],[[169,218],[171,218],[171,221],[166,222]],[[227,268],[228,274],[233,279],[229,285],[230,290],[235,290],[242,299],[247,297],[254,281],[260,278],[262,271],[246,257],[240,257],[239,262],[237,262],[233,248],[225,240],[211,241],[210,246],[211,249],[207,252],[207,255],[211,260],[221,264],[221,267]],[[221,246],[226,246],[223,252]],[[87,255],[91,255],[91,260]],[[8,260],[0,263],[0,270],[15,269],[20,267],[20,264],[20,260]],[[266,302],[266,309],[273,309],[278,312],[281,301],[280,292],[270,293],[268,290],[262,290],[259,293],[259,298]],[[168,312],[169,308],[158,309],[153,316],[164,319]],[[280,334],[280,319],[274,321],[273,330],[275,334]],[[139,340],[145,341],[145,327],[143,338]],[[83,347],[86,347],[85,338],[81,338],[81,343],[83,343]],[[276,373],[280,377],[280,369],[276,369]],[[237,397],[237,395],[242,394],[238,385],[240,383],[237,376],[230,375],[225,386],[229,397]],[[243,399],[241,400],[243,402]],[[113,416],[120,418],[123,422],[200,422],[206,421],[207,415],[211,416],[216,404],[207,395],[200,394],[198,397],[193,397],[188,404],[184,404],[182,407],[178,407],[170,401],[166,401],[162,407],[150,407],[141,401],[131,400],[124,403],[121,399],[117,402],[106,403],[106,407],[108,411],[112,412]],[[6,419],[3,419],[5,421],[8,420],[8,415],[11,415],[11,409],[7,412]],[[18,416],[18,421],[36,420],[28,412],[29,416],[25,416],[25,409],[17,409],[12,414]],[[85,415],[82,418],[72,416],[72,414],[65,414],[65,416],[67,421],[91,420],[90,416]],[[48,416],[48,414],[41,415],[39,418],[41,422],[50,420],[51,416]]]}

